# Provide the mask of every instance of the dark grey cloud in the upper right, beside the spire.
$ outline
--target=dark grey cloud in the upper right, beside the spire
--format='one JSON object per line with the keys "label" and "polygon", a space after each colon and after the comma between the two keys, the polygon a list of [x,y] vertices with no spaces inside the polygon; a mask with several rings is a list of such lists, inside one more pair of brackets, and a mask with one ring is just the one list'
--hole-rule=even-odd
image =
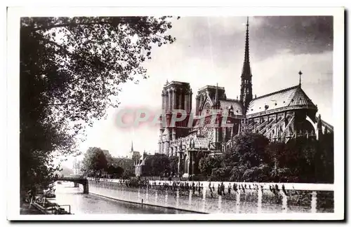
{"label": "dark grey cloud in the upper right, beside the spire", "polygon": [[258,17],[260,26],[251,29],[252,46],[260,59],[282,49],[294,54],[333,50],[333,17]]}

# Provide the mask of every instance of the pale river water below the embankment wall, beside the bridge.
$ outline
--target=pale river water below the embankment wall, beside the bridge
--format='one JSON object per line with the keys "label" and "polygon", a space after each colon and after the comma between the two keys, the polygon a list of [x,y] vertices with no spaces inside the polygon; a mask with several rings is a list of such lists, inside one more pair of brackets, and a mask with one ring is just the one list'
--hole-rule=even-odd
{"label": "pale river water below the embankment wall, beside the bridge", "polygon": [[[55,183],[58,205],[70,205],[72,214],[192,214],[192,212],[163,207],[137,205],[130,202],[112,200],[98,195],[84,194],[81,188],[74,188],[72,182]],[[64,206],[66,210],[68,207]]]}

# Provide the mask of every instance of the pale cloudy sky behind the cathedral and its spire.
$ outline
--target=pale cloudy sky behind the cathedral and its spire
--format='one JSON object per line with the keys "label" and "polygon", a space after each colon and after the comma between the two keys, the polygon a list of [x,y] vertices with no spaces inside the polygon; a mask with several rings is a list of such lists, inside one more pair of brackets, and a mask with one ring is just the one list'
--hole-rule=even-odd
{"label": "pale cloudy sky behind the cathedral and its spire", "polygon": [[[85,152],[89,146],[110,151],[112,156],[128,156],[128,151],[157,149],[159,130],[147,125],[120,128],[116,114],[121,109],[161,109],[161,90],[166,80],[190,83],[192,107],[197,90],[205,85],[225,87],[228,98],[239,96],[244,62],[246,17],[184,17],[173,20],[168,34],[173,44],[152,49],[152,60],[144,63],[150,78],[138,84],[122,85],[119,108],[108,109],[107,118],[87,129]],[[324,121],[333,125],[333,18],[332,17],[250,17],[250,62],[253,95],[298,85],[317,104]]]}

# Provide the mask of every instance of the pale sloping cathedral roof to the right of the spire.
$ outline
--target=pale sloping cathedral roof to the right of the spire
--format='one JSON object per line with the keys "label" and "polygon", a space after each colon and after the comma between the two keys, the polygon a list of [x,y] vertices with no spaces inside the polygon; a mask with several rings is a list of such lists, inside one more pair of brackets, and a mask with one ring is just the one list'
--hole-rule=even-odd
{"label": "pale sloping cathedral roof to the right of the spire", "polygon": [[246,115],[288,107],[308,107],[317,109],[312,100],[305,94],[300,85],[272,92],[253,99]]}

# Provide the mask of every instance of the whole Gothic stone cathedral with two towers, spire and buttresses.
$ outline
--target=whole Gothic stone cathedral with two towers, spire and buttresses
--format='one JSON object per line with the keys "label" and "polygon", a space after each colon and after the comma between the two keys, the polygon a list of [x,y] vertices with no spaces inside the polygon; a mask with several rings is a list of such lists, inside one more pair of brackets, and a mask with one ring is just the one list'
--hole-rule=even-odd
{"label": "whole Gothic stone cathedral with two towers, spire and buttresses", "polygon": [[[302,72],[298,72],[301,77]],[[240,97],[230,99],[225,88],[206,85],[197,91],[192,112],[192,89],[189,83],[171,81],[161,92],[166,122],[175,109],[187,113],[176,125],[161,125],[159,151],[178,156],[178,174],[189,177],[198,172],[199,152],[216,155],[232,146],[232,139],[244,132],[259,133],[272,142],[288,142],[296,137],[319,137],[333,132],[333,126],[316,116],[317,105],[301,88],[291,88],[253,97],[249,60],[249,20],[246,23],[244,64],[241,71]],[[173,113],[174,114],[174,113]],[[213,114],[216,116],[213,117]],[[223,124],[223,116],[226,122]],[[214,119],[214,124],[213,124]],[[229,126],[228,126],[229,125]]]}

